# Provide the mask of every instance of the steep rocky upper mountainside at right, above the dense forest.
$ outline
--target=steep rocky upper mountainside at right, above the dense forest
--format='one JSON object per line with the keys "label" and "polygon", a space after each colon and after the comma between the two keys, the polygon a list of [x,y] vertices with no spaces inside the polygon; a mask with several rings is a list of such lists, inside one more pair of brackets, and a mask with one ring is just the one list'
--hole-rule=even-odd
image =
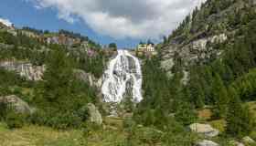
{"label": "steep rocky upper mountainside at right, above the dense forest", "polygon": [[187,67],[218,57],[223,50],[216,45],[232,44],[243,35],[238,31],[255,19],[255,3],[254,0],[208,0],[200,9],[196,8],[159,45],[162,67],[171,73],[177,63],[175,58],[181,58]]}

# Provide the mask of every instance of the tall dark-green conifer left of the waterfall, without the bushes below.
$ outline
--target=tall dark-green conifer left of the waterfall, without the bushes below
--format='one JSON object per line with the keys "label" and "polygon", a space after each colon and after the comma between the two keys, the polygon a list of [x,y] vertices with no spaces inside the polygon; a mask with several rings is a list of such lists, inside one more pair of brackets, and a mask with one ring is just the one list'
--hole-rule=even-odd
{"label": "tall dark-green conifer left of the waterfall, without the bushes below", "polygon": [[70,93],[72,64],[64,48],[54,46],[48,57],[47,70],[44,74],[44,96],[49,101],[60,101]]}

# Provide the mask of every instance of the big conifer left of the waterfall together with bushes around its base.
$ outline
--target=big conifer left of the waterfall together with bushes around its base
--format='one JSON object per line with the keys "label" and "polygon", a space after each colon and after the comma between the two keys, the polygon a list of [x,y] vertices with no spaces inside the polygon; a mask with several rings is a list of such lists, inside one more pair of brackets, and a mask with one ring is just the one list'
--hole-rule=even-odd
{"label": "big conifer left of the waterfall together with bushes around its base", "polygon": [[73,61],[65,49],[53,46],[47,60],[44,81],[37,84],[33,103],[40,110],[34,113],[32,123],[56,129],[78,128],[87,120],[84,105],[96,97],[94,89],[73,75]]}

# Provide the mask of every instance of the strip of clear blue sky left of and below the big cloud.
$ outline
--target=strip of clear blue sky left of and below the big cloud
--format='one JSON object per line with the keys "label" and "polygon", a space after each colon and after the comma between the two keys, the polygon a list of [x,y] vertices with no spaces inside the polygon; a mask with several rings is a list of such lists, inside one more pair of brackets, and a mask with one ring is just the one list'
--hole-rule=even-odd
{"label": "strip of clear blue sky left of and below the big cloud", "polygon": [[26,3],[23,0],[2,0],[0,17],[9,19],[17,27],[30,26],[51,31],[67,29],[84,36],[89,36],[92,40],[103,45],[115,42],[118,47],[134,47],[140,41],[139,39],[132,38],[115,39],[111,36],[102,36],[101,34],[95,33],[82,21],[70,24],[57,17],[57,10],[52,8],[38,10],[34,5]]}

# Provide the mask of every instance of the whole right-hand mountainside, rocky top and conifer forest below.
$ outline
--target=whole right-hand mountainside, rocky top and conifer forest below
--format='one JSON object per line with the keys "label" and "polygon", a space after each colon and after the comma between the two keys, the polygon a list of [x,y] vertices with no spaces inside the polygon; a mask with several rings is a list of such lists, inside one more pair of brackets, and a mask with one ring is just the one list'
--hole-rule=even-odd
{"label": "whole right-hand mountainside, rocky top and conifer forest below", "polygon": [[225,140],[254,133],[255,111],[244,105],[255,100],[255,4],[208,0],[165,37],[160,56],[144,63],[135,120],[164,130],[172,116],[184,126],[210,123]]}

